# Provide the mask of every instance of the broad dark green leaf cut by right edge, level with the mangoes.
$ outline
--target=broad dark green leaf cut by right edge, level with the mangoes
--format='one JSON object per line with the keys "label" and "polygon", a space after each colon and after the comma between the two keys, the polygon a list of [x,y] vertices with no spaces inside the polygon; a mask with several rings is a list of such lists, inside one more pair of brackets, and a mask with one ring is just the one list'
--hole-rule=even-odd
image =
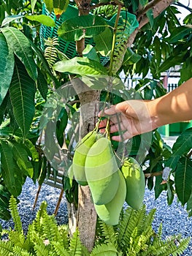
{"label": "broad dark green leaf cut by right edge, level with the mangoes", "polygon": [[174,182],[177,197],[185,205],[191,195],[192,162],[187,157],[182,157],[175,170]]}

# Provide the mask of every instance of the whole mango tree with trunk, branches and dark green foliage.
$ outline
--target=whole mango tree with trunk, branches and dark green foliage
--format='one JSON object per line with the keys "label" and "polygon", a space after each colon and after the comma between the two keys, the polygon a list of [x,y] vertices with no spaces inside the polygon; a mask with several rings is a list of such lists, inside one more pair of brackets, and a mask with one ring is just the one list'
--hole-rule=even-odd
{"label": "whole mango tree with trunk, branches and dark green foliage", "polygon": [[[185,18],[184,25],[180,24],[176,16],[179,2],[70,2],[77,15],[68,17],[59,28],[56,27],[58,37],[43,41],[44,55],[39,45],[38,35],[41,37],[42,33],[39,24],[53,29],[69,8],[68,1],[56,2],[45,1],[47,10],[55,12],[55,21],[49,14],[39,13],[41,1],[19,1],[20,9],[15,7],[15,1],[8,5],[7,1],[1,1],[0,5],[1,13],[10,15],[1,20],[0,29],[0,197],[3,219],[10,217],[7,210],[10,195],[20,195],[27,176],[39,184],[50,170],[56,176],[58,163],[50,161],[55,159],[55,154],[61,156],[64,152],[62,165],[64,170],[69,169],[74,152],[72,139],[77,143],[96,127],[98,102],[104,102],[103,106],[106,106],[125,99],[160,97],[166,93],[161,72],[176,64],[180,65],[180,83],[191,78],[191,15]],[[61,51],[60,39],[76,44],[75,56],[69,57]],[[102,63],[102,59],[106,62]],[[122,71],[126,77],[135,74],[142,77],[134,91],[120,83]],[[147,78],[148,72],[150,78]],[[96,87],[91,87],[91,79]],[[64,83],[67,90],[63,91]],[[55,90],[58,102],[53,100]],[[70,121],[72,127],[67,129]],[[53,124],[56,124],[55,128]],[[79,132],[76,132],[77,124],[80,124]],[[45,142],[42,127],[46,127]],[[42,148],[43,143],[45,148]],[[177,193],[191,214],[191,129],[183,132],[173,148],[166,146],[155,130],[150,140],[137,136],[123,145],[113,143],[113,150],[117,153],[120,150],[122,156],[130,143],[131,157],[147,148],[147,152],[142,151],[145,157],[138,161],[143,167],[147,187],[155,189],[155,197],[167,190],[168,203],[172,203]],[[144,168],[147,162],[150,165]],[[161,184],[165,167],[170,167],[172,172]],[[64,176],[64,190],[71,203],[69,222],[79,228],[82,243],[91,251],[97,214],[90,189]]]}

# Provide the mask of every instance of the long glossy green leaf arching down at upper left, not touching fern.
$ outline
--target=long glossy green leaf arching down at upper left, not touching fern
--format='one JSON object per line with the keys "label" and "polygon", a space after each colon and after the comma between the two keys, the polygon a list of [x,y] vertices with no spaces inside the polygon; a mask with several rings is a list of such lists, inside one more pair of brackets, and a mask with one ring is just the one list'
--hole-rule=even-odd
{"label": "long glossy green leaf arching down at upper left, not touching fern", "polygon": [[37,81],[37,65],[28,38],[19,29],[13,27],[2,28],[1,32],[6,37],[9,48],[12,48],[18,59],[25,65],[28,75]]}

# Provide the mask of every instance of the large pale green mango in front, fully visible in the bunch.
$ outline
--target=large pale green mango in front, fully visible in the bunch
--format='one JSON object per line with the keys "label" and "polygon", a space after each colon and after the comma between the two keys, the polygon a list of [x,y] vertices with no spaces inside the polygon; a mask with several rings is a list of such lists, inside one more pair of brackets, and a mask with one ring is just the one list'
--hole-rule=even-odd
{"label": "large pale green mango in front, fully visible in the bunch", "polygon": [[120,180],[118,170],[110,140],[99,138],[85,159],[85,176],[95,204],[109,203],[115,196]]}

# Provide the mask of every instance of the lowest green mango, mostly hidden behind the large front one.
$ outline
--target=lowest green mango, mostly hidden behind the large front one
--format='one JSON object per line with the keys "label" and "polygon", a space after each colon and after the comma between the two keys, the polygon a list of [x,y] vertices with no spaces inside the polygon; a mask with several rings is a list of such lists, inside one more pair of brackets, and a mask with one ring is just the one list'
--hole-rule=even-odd
{"label": "lowest green mango, mostly hidden behind the large front one", "polygon": [[122,210],[123,203],[126,199],[126,181],[120,170],[118,171],[118,175],[120,177],[120,182],[115,197],[113,197],[110,203],[105,205],[94,205],[97,215],[107,225],[118,225],[120,211]]}

